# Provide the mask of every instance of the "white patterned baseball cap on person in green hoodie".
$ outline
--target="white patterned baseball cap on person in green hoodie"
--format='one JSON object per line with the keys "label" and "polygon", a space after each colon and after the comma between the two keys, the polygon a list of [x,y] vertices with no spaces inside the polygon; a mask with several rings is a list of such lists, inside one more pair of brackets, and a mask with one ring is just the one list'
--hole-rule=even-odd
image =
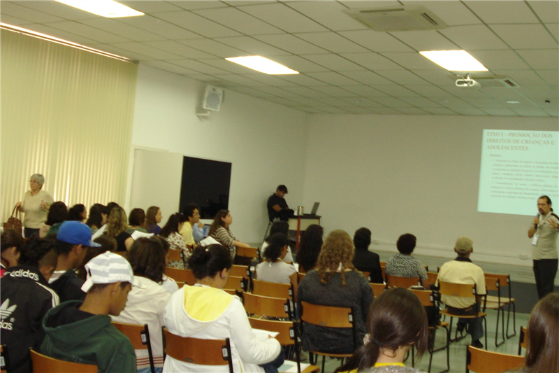
{"label": "white patterned baseball cap on person in green hoodie", "polygon": [[128,260],[122,256],[107,251],[89,260],[85,265],[87,280],[82,290],[87,293],[96,283],[129,282],[138,288],[145,288],[140,281],[134,279],[134,272]]}

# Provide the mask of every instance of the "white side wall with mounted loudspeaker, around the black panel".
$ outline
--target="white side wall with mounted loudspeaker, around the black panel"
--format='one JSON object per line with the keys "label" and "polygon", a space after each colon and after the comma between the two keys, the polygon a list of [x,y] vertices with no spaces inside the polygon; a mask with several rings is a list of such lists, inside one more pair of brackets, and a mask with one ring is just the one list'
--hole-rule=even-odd
{"label": "white side wall with mounted loudspeaker, around the black panel", "polygon": [[[140,64],[132,144],[231,162],[231,230],[241,241],[260,242],[268,223],[266,199],[276,186],[287,185],[290,206],[303,199],[307,115],[226,90],[220,111],[200,119],[194,113],[204,88]],[[173,212],[162,211],[164,221]]]}

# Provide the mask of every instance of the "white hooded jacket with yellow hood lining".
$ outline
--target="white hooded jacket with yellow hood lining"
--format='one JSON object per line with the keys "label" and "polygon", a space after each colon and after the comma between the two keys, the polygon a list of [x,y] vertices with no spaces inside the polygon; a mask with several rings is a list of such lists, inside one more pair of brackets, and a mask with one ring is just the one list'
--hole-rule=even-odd
{"label": "white hooded jacket with yellow hood lining", "polygon": [[[270,363],[279,355],[276,339],[256,338],[239,298],[209,286],[184,286],[171,295],[163,313],[166,328],[181,337],[225,339],[231,342],[235,373],[264,372],[259,364]],[[228,372],[228,366],[194,365],[165,359],[164,373]]]}

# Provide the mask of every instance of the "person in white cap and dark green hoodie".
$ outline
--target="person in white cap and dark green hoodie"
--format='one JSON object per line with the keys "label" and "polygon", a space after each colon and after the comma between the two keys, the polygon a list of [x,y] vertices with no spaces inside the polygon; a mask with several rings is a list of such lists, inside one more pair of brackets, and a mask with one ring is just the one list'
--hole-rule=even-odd
{"label": "person in white cap and dark green hoodie", "polygon": [[110,323],[118,316],[134,279],[132,267],[115,253],[102,253],[85,265],[83,302],[65,302],[43,318],[46,332],[41,353],[73,363],[97,365],[99,373],[136,373],[136,355],[130,340]]}

